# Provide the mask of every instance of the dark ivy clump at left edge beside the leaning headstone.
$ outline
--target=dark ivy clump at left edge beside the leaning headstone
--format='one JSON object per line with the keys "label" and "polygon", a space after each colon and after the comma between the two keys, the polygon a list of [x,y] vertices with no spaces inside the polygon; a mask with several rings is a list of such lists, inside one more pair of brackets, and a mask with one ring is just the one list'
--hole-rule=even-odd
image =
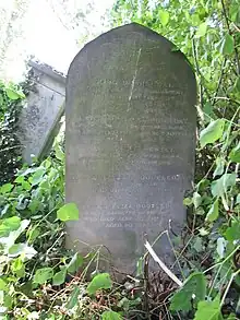
{"label": "dark ivy clump at left edge beside the leaning headstone", "polygon": [[24,97],[17,86],[0,82],[0,186],[13,178],[22,163],[17,120]]}

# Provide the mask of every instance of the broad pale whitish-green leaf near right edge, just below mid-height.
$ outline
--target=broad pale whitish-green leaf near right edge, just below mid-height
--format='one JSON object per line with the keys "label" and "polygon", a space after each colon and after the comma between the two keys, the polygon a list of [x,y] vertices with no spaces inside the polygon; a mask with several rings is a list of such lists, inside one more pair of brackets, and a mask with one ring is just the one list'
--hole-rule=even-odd
{"label": "broad pale whitish-green leaf near right edge, just below mid-height", "polygon": [[229,187],[236,185],[236,174],[225,174],[219,179],[215,180],[211,185],[211,191],[214,197],[221,197],[227,192]]}

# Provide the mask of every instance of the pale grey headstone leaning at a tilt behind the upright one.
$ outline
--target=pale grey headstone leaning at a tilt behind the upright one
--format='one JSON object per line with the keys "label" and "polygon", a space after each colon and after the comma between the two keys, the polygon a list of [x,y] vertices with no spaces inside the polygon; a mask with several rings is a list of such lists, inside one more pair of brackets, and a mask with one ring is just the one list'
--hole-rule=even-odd
{"label": "pale grey headstone leaning at a tilt behind the upright one", "polygon": [[64,111],[65,76],[50,66],[29,61],[34,88],[27,96],[20,117],[20,140],[23,159],[32,163],[33,155],[41,158],[51,149]]}

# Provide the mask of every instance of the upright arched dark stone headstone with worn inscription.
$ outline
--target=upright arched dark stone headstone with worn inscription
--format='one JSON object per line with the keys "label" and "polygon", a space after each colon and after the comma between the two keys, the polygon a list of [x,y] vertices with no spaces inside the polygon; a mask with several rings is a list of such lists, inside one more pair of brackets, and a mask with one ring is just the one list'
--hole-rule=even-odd
{"label": "upright arched dark stone headstone with worn inscription", "polygon": [[[103,245],[113,268],[132,273],[171,226],[194,171],[196,83],[185,57],[157,33],[129,24],[87,44],[67,76],[67,202],[80,221],[67,246]],[[170,263],[167,237],[154,246]],[[154,265],[153,265],[154,269]]]}

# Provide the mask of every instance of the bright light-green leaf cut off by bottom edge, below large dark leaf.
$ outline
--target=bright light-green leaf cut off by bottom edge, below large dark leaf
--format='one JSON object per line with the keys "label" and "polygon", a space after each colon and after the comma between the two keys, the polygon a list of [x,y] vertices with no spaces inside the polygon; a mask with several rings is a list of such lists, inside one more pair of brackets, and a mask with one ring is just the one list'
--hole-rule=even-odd
{"label": "bright light-green leaf cut off by bottom edge, below large dark leaf", "polygon": [[217,296],[214,301],[200,301],[194,320],[221,320],[220,299]]}

